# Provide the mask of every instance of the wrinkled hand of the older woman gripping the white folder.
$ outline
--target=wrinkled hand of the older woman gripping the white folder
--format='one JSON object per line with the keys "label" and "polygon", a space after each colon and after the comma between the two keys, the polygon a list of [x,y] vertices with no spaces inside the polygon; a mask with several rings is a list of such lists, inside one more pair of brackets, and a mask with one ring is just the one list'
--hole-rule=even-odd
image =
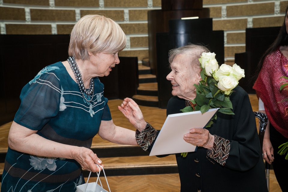
{"label": "wrinkled hand of the older woman gripping the white folder", "polygon": [[207,129],[193,128],[184,135],[184,140],[192,145],[212,150],[214,135],[211,135]]}

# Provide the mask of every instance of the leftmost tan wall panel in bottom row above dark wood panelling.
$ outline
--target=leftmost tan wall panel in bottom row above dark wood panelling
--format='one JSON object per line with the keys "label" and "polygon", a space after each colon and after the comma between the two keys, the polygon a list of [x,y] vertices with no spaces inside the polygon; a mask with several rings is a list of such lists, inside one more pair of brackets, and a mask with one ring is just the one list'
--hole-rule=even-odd
{"label": "leftmost tan wall panel in bottom row above dark wood panelling", "polygon": [[51,25],[6,24],[9,35],[51,35]]}

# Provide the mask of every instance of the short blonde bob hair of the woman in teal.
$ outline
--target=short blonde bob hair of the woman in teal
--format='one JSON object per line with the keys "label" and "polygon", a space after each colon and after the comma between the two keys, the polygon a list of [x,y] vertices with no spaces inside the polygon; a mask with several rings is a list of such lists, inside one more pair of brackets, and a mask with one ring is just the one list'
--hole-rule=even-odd
{"label": "short blonde bob hair of the woman in teal", "polygon": [[85,15],[72,29],[68,54],[75,59],[89,60],[88,52],[116,53],[126,45],[126,35],[112,19],[103,15]]}

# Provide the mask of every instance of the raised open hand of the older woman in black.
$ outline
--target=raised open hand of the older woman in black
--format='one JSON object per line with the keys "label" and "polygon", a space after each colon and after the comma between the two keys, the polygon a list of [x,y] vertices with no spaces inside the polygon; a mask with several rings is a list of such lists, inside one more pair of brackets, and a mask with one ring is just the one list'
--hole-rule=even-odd
{"label": "raised open hand of the older woman in black", "polygon": [[144,120],[143,114],[135,101],[130,98],[125,98],[118,109],[124,114],[124,116],[129,120],[129,122],[138,131],[142,132],[146,127],[146,122]]}

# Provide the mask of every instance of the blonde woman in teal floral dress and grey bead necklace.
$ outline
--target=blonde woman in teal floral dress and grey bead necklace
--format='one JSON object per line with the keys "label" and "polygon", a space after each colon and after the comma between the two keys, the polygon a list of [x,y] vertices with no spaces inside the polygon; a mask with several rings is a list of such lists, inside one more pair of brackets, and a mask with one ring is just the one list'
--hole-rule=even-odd
{"label": "blonde woman in teal floral dress and grey bead necklace", "polygon": [[73,27],[70,57],[42,69],[21,91],[11,125],[1,191],[76,191],[82,169],[99,171],[92,138],[138,145],[135,131],[113,124],[104,85],[119,64],[126,36],[112,19],[82,17]]}

